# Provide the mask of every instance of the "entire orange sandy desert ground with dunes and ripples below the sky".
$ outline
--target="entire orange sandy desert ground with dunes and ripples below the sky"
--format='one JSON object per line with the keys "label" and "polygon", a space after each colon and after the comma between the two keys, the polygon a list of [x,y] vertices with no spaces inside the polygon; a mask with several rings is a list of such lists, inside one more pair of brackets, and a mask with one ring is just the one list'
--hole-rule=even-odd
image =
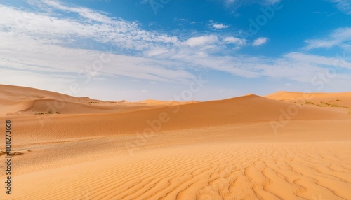
{"label": "entire orange sandy desert ground with dunes and ripples below the sky", "polygon": [[133,103],[0,85],[0,100],[22,154],[0,199],[351,199],[351,93]]}

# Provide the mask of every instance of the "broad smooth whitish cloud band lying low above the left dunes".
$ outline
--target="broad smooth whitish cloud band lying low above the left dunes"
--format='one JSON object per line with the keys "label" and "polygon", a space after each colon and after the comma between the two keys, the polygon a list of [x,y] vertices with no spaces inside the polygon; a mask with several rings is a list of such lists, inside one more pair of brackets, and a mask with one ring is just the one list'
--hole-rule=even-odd
{"label": "broad smooth whitish cloud band lying low above the left dunes", "polygon": [[77,79],[102,74],[163,82],[184,82],[193,77],[176,62],[66,48],[28,37],[14,38],[1,32],[0,37],[4,38],[0,43],[0,66],[17,71],[69,73]]}

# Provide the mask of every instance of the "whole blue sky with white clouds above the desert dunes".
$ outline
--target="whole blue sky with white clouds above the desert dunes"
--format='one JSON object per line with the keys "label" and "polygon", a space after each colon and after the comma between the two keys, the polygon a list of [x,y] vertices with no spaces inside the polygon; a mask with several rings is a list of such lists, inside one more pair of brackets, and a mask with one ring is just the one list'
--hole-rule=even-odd
{"label": "whole blue sky with white clouds above the desert dunes", "polygon": [[346,0],[3,0],[0,13],[0,84],[128,101],[351,91]]}

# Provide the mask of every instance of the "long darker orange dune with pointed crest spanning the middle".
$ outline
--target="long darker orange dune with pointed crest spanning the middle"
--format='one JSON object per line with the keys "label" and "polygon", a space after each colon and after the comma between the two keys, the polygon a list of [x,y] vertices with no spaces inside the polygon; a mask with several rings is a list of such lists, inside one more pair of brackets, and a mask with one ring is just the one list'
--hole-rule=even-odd
{"label": "long darker orange dune with pointed crest spanning the middle", "polygon": [[[293,113],[294,115],[289,115]],[[275,101],[256,95],[192,103],[180,106],[150,108],[126,113],[81,115],[32,115],[16,117],[18,135],[30,143],[38,137],[45,140],[134,134],[150,131],[197,129],[225,124],[248,124],[285,120],[351,119],[343,110],[326,110],[311,106]],[[98,120],[97,120],[98,119]],[[62,126],[62,124],[65,124]],[[26,132],[33,132],[29,136]]]}

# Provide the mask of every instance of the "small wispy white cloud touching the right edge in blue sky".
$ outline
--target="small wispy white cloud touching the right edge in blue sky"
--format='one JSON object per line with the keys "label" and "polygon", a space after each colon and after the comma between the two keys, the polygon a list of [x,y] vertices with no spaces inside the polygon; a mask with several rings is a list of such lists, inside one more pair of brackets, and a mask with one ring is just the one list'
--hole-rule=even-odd
{"label": "small wispy white cloud touching the right edge in blue sky", "polygon": [[343,45],[343,43],[351,41],[351,28],[345,27],[336,29],[326,38],[307,40],[307,50],[314,48],[332,48],[336,45]]}

